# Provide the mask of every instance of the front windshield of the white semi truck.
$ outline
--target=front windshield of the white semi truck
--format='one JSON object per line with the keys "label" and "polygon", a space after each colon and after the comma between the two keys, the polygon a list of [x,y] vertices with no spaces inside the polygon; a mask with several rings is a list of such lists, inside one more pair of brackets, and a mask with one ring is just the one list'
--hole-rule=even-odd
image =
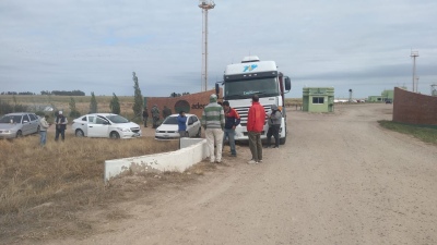
{"label": "front windshield of the white semi truck", "polygon": [[258,79],[228,81],[225,84],[226,99],[247,99],[253,95],[261,97],[277,96],[279,88],[276,77],[263,77]]}

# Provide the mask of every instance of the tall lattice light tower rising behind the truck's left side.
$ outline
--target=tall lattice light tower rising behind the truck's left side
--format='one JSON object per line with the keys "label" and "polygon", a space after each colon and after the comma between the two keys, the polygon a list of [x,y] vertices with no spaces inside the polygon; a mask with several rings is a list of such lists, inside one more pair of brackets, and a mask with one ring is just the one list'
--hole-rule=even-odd
{"label": "tall lattice light tower rising behind the truck's left side", "polygon": [[208,11],[214,9],[215,3],[212,0],[200,0],[199,8],[202,9],[202,91],[208,89]]}

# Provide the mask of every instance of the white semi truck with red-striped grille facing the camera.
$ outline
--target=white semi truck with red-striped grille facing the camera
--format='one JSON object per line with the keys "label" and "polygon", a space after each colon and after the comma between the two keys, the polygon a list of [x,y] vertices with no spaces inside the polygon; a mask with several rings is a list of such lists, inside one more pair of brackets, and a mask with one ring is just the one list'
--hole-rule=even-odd
{"label": "white semi truck with red-striped grille facing the camera", "polygon": [[[270,113],[272,105],[282,108],[283,115],[280,130],[280,144],[285,144],[286,127],[286,110],[284,107],[284,94],[288,93],[292,84],[288,76],[284,76],[277,71],[274,61],[260,61],[258,57],[246,57],[241,63],[229,64],[224,73],[223,100],[229,101],[229,106],[234,108],[241,118],[240,124],[235,128],[235,140],[248,140],[247,135],[247,117],[251,106],[251,98],[258,95],[259,102],[264,107],[267,113]],[[220,83],[215,84],[215,91],[220,93]],[[264,130],[261,138],[267,137],[269,130],[267,118]]]}

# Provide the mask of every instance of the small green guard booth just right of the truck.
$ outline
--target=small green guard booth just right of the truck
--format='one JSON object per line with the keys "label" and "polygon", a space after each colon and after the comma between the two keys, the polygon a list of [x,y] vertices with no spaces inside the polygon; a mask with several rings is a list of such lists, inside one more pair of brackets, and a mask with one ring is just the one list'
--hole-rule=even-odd
{"label": "small green guard booth just right of the truck", "polygon": [[332,112],[334,111],[333,87],[304,87],[303,111]]}

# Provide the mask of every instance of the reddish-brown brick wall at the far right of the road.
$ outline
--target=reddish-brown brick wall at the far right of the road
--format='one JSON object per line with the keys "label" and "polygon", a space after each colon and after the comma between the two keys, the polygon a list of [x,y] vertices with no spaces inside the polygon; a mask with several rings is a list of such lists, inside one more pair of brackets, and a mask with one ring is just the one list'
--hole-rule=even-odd
{"label": "reddish-brown brick wall at the far right of the road", "polygon": [[437,97],[395,87],[393,122],[437,125]]}

